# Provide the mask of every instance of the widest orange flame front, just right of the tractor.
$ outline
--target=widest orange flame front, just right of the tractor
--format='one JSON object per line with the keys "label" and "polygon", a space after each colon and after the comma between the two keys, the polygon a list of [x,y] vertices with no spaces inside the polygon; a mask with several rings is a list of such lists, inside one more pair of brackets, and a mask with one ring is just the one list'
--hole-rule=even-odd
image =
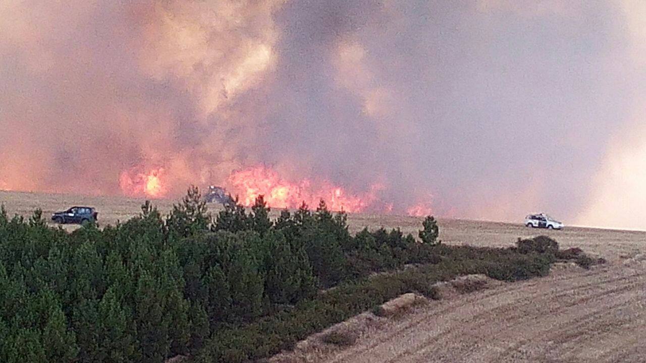
{"label": "widest orange flame front, just right of the tractor", "polygon": [[305,202],[313,208],[320,200],[324,200],[329,210],[349,213],[366,210],[377,201],[377,192],[383,189],[381,185],[375,184],[369,192],[351,194],[327,180],[318,183],[307,179],[291,182],[263,166],[235,171],[227,182],[232,194],[237,195],[244,205],[252,205],[262,195],[270,207],[298,208]]}

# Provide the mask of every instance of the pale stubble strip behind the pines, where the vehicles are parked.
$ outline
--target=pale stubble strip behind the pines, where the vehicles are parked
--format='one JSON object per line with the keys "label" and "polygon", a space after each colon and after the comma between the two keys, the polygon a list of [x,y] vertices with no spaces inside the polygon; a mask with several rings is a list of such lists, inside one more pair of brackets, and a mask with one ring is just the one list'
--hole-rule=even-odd
{"label": "pale stubble strip behind the pines, where the vehicles are parked", "polygon": [[[71,194],[45,194],[30,192],[0,191],[0,204],[4,204],[8,213],[29,216],[36,208],[43,210],[46,218],[54,211],[67,209],[72,205],[89,205],[99,212],[99,223],[114,224],[125,221],[140,213],[143,199],[118,196],[75,196]],[[171,210],[173,200],[154,200],[153,204],[161,213]],[[209,203],[211,211],[218,211],[219,205]],[[272,211],[277,215],[277,211]],[[523,218],[524,216],[519,216]],[[404,233],[417,237],[423,218],[409,216],[349,214],[348,222],[352,232],[364,227],[400,228]],[[565,221],[567,223],[567,221]],[[529,238],[537,234],[547,234],[561,245],[561,248],[579,247],[592,256],[603,256],[610,261],[620,260],[646,252],[646,232],[615,231],[610,229],[592,229],[567,227],[563,231],[531,229],[520,223],[483,222],[471,220],[439,220],[440,240],[449,244],[470,244],[482,247],[505,247],[514,244],[516,239]],[[77,228],[66,225],[66,229]]]}

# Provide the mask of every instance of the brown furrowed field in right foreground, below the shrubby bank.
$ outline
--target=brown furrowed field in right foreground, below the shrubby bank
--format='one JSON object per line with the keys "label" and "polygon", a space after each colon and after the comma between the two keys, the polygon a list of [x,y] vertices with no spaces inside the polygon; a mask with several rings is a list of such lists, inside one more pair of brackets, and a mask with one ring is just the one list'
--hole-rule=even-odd
{"label": "brown furrowed field in right foreground, below the shrubby bank", "polygon": [[646,269],[570,269],[462,295],[309,362],[646,362]]}

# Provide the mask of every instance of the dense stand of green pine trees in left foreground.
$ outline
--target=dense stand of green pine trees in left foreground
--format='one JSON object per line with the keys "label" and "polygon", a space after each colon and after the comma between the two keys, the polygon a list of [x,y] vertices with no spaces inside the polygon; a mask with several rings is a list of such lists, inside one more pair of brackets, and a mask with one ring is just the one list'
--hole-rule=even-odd
{"label": "dense stand of green pine trees in left foreground", "polygon": [[214,218],[197,189],[168,216],[150,203],[116,226],[67,233],[41,213],[0,212],[0,362],[150,362],[194,355],[224,327],[315,298],[325,287],[422,262],[437,243],[399,230],[348,232],[321,202],[282,211],[262,197]]}

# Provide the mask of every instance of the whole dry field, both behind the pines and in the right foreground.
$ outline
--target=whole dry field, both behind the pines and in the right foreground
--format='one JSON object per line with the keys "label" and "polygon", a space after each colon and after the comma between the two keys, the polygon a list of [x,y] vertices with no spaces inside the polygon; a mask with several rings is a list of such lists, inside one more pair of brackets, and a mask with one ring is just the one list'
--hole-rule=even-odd
{"label": "whole dry field, both behind the pines and in the right foreground", "polygon": [[[101,223],[127,220],[139,213],[142,202],[0,192],[0,203],[12,214],[28,215],[39,207],[48,216],[71,205],[91,205]],[[155,203],[162,212],[172,205]],[[421,218],[406,216],[351,214],[348,220],[352,231],[399,227],[416,234],[421,227]],[[465,220],[440,220],[440,227],[447,244],[508,246],[518,237],[548,234],[561,247],[580,247],[609,264],[589,271],[556,269],[547,278],[431,302],[369,329],[352,347],[309,355],[307,362],[646,362],[646,261],[638,261],[646,253],[645,232],[539,231],[518,223]]]}

